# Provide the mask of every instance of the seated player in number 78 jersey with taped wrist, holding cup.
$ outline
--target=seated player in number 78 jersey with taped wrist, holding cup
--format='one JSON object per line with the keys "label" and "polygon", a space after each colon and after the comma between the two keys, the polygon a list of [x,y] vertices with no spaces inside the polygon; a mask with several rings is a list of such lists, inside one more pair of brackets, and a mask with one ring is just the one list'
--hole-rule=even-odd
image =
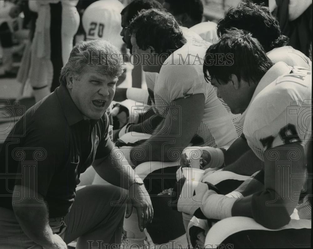
{"label": "seated player in number 78 jersey with taped wrist, holding cup", "polygon": [[[220,53],[232,54],[232,65],[208,64]],[[234,29],[208,48],[204,73],[231,111],[242,113],[245,138],[263,167],[228,195],[207,182],[206,175],[202,182],[182,177],[175,187],[175,208],[210,221],[250,217],[264,227],[236,232],[222,242],[234,248],[310,246],[306,174],[311,172],[312,72],[274,64],[251,33]],[[201,244],[201,232],[192,230],[194,245]]]}

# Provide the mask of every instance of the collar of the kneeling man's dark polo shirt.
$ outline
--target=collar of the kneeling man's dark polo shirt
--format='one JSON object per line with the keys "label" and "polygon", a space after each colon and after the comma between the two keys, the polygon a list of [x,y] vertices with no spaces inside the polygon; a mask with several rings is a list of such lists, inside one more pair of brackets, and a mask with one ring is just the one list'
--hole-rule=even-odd
{"label": "collar of the kneeling man's dark polo shirt", "polygon": [[57,89],[55,89],[55,92],[59,99],[59,103],[64,111],[64,116],[69,126],[72,126],[84,119],[80,110],[77,108],[74,101],[72,100],[72,97],[70,96],[66,86],[60,85]]}

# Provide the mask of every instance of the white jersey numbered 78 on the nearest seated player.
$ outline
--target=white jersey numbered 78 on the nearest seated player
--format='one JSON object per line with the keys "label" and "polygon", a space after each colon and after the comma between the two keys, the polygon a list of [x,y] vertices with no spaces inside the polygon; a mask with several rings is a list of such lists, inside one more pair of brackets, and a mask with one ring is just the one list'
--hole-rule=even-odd
{"label": "white jersey numbered 78 on the nearest seated player", "polygon": [[[283,72],[272,82],[264,81],[277,68]],[[264,75],[247,108],[244,135],[261,159],[264,151],[311,136],[312,72],[278,62]]]}

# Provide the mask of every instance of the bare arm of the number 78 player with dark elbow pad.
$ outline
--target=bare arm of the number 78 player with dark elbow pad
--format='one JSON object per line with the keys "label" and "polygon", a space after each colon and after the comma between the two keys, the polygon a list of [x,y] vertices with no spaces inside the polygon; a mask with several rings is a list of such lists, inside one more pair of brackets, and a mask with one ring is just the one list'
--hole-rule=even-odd
{"label": "bare arm of the number 78 player with dark elbow pad", "polygon": [[[305,153],[302,145],[291,143],[276,148],[278,148],[280,160],[288,159],[288,154],[294,150],[299,151],[299,159],[291,163],[291,172],[293,174],[305,174]],[[264,191],[255,193],[255,196],[249,195],[238,199],[233,205],[232,216],[253,217],[256,221],[261,218],[259,216],[263,216],[265,220],[276,217],[274,219],[276,224],[271,224],[272,227],[270,227],[275,229],[288,224],[289,219],[287,217],[292,214],[294,208],[298,205],[298,202],[295,201],[298,201],[299,197],[296,197],[295,194],[301,192],[303,179],[293,179],[290,188],[286,188],[287,185],[283,187],[284,183],[289,182],[290,176],[280,172],[277,161],[270,160],[267,152],[264,152]],[[281,177],[281,181],[278,181],[278,176]],[[292,198],[282,198],[285,194]],[[267,202],[273,201],[276,201],[276,204],[280,204],[280,206],[266,205]],[[259,202],[262,205],[253,205],[253,202]],[[262,225],[266,226],[266,224]]]}

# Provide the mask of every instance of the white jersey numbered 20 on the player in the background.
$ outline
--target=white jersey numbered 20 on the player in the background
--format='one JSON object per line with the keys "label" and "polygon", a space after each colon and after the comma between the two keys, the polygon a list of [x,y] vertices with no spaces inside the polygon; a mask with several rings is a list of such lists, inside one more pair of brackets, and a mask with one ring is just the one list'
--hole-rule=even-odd
{"label": "white jersey numbered 20 on the player in the background", "polygon": [[100,0],[90,4],[82,17],[86,38],[103,39],[121,48],[124,43],[120,36],[123,8],[123,4],[118,0]]}

